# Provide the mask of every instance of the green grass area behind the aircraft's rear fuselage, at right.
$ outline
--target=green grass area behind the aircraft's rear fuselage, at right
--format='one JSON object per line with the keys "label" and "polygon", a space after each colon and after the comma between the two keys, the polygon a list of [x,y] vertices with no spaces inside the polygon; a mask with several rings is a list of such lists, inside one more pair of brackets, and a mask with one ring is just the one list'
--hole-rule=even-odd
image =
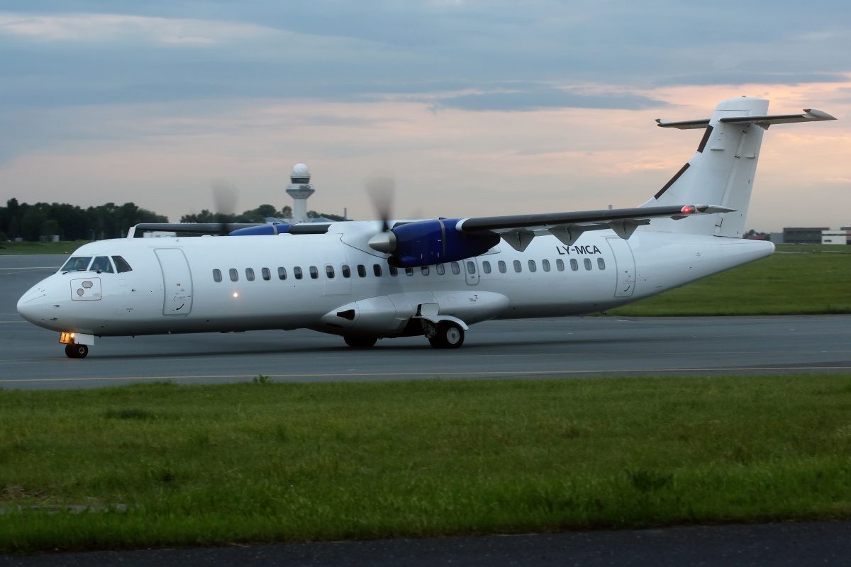
{"label": "green grass area behind the aircraft's rear fuselage, at right", "polygon": [[851,246],[780,245],[769,258],[695,281],[609,315],[851,313]]}

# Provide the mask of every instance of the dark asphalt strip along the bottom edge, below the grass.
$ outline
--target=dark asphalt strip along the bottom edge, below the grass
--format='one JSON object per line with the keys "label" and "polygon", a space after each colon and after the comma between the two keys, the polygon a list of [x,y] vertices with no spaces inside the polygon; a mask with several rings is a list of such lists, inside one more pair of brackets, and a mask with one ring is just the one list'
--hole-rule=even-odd
{"label": "dark asphalt strip along the bottom edge, below the grass", "polygon": [[851,524],[727,525],[528,536],[0,557],[0,567],[810,567],[848,565]]}

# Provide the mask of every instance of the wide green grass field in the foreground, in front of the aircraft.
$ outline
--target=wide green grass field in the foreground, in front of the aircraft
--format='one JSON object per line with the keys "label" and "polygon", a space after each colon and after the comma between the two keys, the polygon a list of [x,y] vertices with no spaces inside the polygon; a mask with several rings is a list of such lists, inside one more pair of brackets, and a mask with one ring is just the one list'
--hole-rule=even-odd
{"label": "wide green grass field in the foreground, in front of the aircraft", "polygon": [[0,391],[0,500],[7,553],[848,519],[851,374]]}

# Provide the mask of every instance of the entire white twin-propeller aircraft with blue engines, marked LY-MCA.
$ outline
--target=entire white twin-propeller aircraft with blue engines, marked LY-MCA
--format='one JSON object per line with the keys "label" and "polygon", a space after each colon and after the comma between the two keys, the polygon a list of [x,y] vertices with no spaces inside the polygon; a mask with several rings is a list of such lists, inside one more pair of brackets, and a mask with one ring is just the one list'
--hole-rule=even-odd
{"label": "entire white twin-propeller aircraft with blue engines, marked LY-MCA", "polygon": [[[94,337],[307,328],[355,348],[425,336],[455,349],[468,325],[633,303],[765,258],[742,239],[762,133],[835,120],[768,115],[742,97],[705,120],[697,152],[636,208],[333,224],[145,224],[80,247],[18,312],[83,358]],[[137,230],[226,234],[134,238]]]}

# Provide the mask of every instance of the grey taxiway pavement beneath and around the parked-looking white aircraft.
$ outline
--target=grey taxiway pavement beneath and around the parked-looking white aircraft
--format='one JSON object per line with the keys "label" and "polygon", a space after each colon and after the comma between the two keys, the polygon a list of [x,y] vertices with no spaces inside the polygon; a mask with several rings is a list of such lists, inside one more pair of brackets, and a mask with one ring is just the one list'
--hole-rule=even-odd
{"label": "grey taxiway pavement beneath and around the parked-looking white aircraft", "polygon": [[601,377],[851,371],[851,315],[564,317],[486,321],[458,350],[423,337],[354,350],[311,331],[203,333],[96,339],[66,358],[59,334],[33,326],[18,298],[64,256],[0,257],[0,388],[93,388],[151,380]]}

